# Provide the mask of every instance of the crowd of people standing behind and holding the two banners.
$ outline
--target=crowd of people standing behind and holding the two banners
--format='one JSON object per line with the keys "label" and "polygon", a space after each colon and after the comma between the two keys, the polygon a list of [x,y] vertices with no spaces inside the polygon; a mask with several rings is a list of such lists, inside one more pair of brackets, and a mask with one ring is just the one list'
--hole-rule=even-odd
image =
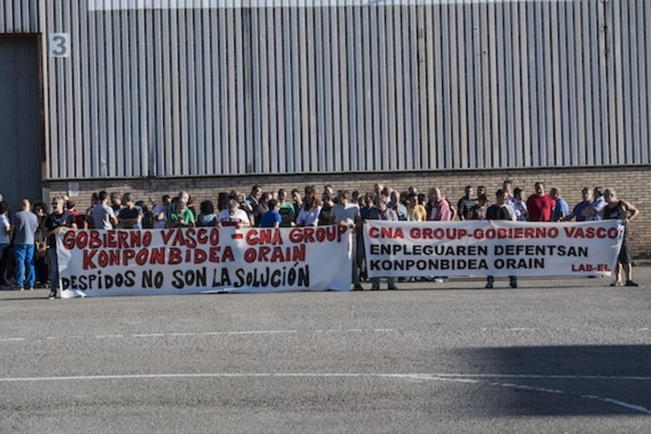
{"label": "crowd of people standing behind and holding the two banners", "polygon": [[[532,195],[514,188],[510,180],[490,195],[486,187],[464,188],[464,196],[450,202],[440,188],[432,187],[425,195],[416,187],[399,192],[380,183],[372,191],[361,193],[334,191],[330,185],[323,190],[316,186],[299,189],[264,191],[255,185],[248,195],[238,190],[222,192],[216,203],[205,200],[195,209],[186,191],[171,197],[163,195],[160,204],[152,207],[126,193],[100,191],[91,197],[91,206],[80,213],[70,197],[55,197],[51,210],[44,203],[22,199],[19,209],[10,218],[8,204],[0,195],[0,286],[14,290],[49,287],[50,298],[58,290],[56,235],[70,229],[164,229],[206,226],[236,226],[289,228],[328,224],[345,224],[357,229],[353,243],[353,291],[362,290],[365,261],[360,225],[367,220],[384,221],[597,221],[618,219],[624,225],[638,217],[638,209],[620,200],[612,188],[584,187],[582,200],[570,211],[560,189],[551,187],[549,193],[542,182],[534,186]],[[494,198],[494,200],[491,200]],[[15,282],[9,285],[7,275],[14,266]],[[621,274],[625,274],[622,280]],[[440,278],[436,278],[440,281]],[[488,277],[486,288],[492,288],[494,278]],[[509,278],[517,287],[516,276]],[[611,286],[638,286],[633,282],[630,266],[628,235],[624,237],[615,279]],[[394,279],[387,279],[389,290],[397,289]],[[371,290],[379,289],[377,278],[371,279]]]}

